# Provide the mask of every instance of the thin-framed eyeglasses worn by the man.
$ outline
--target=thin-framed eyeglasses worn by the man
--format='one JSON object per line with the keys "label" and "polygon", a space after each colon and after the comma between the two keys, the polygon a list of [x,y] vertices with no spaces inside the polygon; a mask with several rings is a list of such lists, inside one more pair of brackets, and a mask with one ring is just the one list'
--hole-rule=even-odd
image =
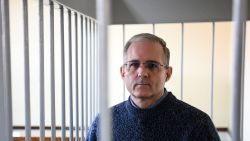
{"label": "thin-framed eyeglasses worn by the man", "polygon": [[161,67],[167,68],[167,65],[162,65],[156,61],[146,61],[142,63],[140,61],[128,61],[124,64],[124,66],[126,67],[128,71],[132,72],[132,71],[136,71],[141,66],[141,64],[143,64],[145,68],[154,72],[159,71]]}

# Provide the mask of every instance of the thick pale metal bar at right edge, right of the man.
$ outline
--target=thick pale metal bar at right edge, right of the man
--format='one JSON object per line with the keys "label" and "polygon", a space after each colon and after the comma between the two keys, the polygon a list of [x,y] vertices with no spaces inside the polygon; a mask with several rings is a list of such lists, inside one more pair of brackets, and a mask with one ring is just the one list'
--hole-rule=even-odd
{"label": "thick pale metal bar at right edge, right of the man", "polygon": [[233,141],[242,140],[241,98],[243,96],[243,68],[245,46],[243,29],[246,22],[247,0],[233,0],[233,80],[231,122],[229,131]]}

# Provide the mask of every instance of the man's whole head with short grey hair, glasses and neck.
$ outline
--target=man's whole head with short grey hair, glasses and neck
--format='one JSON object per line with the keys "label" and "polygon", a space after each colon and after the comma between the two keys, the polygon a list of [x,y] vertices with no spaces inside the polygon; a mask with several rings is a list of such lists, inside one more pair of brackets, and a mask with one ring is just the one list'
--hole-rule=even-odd
{"label": "man's whole head with short grey hair, glasses and neck", "polygon": [[161,97],[172,74],[169,56],[166,43],[155,35],[138,34],[128,41],[120,72],[133,101],[151,105]]}

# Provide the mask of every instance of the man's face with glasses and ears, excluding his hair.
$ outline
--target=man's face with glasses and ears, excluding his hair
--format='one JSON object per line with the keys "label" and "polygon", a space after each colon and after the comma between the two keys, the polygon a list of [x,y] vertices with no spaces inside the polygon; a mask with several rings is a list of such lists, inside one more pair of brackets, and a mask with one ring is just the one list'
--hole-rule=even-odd
{"label": "man's face with glasses and ears, excluding his hair", "polygon": [[[171,68],[162,66],[165,65],[164,58],[159,43],[145,40],[130,45],[121,76],[132,97],[154,99],[163,93],[165,81],[172,73]],[[157,68],[154,63],[160,66]]]}

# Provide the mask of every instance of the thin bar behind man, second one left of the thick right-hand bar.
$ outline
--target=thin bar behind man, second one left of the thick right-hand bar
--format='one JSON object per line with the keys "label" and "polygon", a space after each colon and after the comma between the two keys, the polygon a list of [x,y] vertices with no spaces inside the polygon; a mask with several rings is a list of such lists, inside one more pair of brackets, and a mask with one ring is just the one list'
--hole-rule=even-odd
{"label": "thin bar behind man, second one left of the thick right-hand bar", "polygon": [[183,100],[183,76],[184,76],[184,23],[181,23],[181,100]]}

